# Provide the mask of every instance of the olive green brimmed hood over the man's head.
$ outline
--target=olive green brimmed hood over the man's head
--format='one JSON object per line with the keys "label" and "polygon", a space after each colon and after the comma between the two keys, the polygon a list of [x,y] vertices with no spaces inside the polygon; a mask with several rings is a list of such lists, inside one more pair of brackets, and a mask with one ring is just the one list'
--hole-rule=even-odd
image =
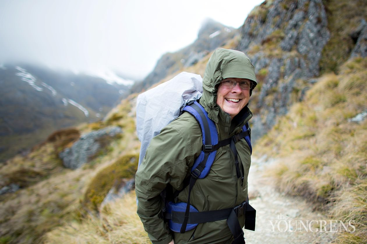
{"label": "olive green brimmed hood over the man's head", "polygon": [[[219,117],[226,117],[216,103],[218,85],[225,78],[250,79],[255,86],[257,85],[254,66],[243,52],[223,48],[215,50],[205,68],[203,96],[200,98],[200,104],[204,106],[209,118],[215,123],[218,123]],[[250,94],[251,92],[252,90]],[[247,106],[244,109],[248,110]]]}

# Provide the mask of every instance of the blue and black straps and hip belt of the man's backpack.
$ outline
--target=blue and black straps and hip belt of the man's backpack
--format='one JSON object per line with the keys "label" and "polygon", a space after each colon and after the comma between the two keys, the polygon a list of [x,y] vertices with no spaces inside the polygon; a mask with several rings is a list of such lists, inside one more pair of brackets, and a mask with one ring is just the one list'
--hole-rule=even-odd
{"label": "blue and black straps and hip belt of the man's backpack", "polygon": [[[186,75],[187,74],[190,73],[186,73]],[[177,81],[181,79],[180,81],[181,83],[183,76],[180,75],[178,75],[179,79],[175,79],[177,78],[176,76],[172,80]],[[171,82],[172,80],[168,82]],[[154,94],[157,94],[156,92],[157,91],[155,91]],[[237,150],[235,147],[235,143],[240,139],[244,138],[248,146],[250,147],[250,153],[252,153],[251,139],[250,139],[251,129],[246,123],[246,125],[243,126],[242,131],[239,134],[232,136],[232,138],[228,138],[226,140],[218,142],[218,133],[217,128],[215,127],[215,123],[211,119],[209,119],[207,112],[205,111],[203,106],[201,106],[196,101],[196,99],[191,99],[186,104],[183,104],[182,108],[180,108],[180,112],[182,113],[183,111],[186,111],[190,113],[193,117],[195,117],[198,124],[200,125],[201,133],[203,135],[202,136],[203,147],[201,149],[199,156],[195,159],[192,168],[190,169],[191,172],[190,176],[186,178],[183,182],[183,188],[180,191],[176,191],[174,194],[172,194],[170,187],[167,187],[166,190],[162,192],[161,197],[165,202],[165,207],[162,210],[163,217],[168,222],[168,226],[172,231],[181,233],[185,233],[185,231],[195,228],[199,223],[227,219],[229,229],[232,232],[233,236],[235,237],[234,243],[244,243],[243,231],[240,227],[237,216],[245,214],[246,215],[245,228],[249,230],[255,230],[256,210],[253,209],[250,206],[250,204],[248,204],[248,199],[247,202],[243,202],[239,206],[235,206],[234,208],[206,211],[206,212],[199,212],[194,206],[192,206],[189,203],[190,203],[190,193],[193,188],[193,185],[196,182],[196,179],[203,179],[204,177],[207,176],[207,174],[210,171],[211,165],[214,162],[215,154],[219,149],[219,147],[226,146],[228,144],[230,145],[230,149],[235,155],[237,177],[242,177],[243,179],[242,171],[239,168],[239,161],[237,158]],[[165,117],[164,115],[160,116]],[[138,117],[138,106],[137,106],[137,117]],[[138,120],[137,120],[137,127],[138,127]],[[143,153],[145,155],[145,151]],[[174,197],[177,196],[179,192],[181,192],[187,186],[189,186],[187,203],[184,202],[174,203],[172,201]]]}

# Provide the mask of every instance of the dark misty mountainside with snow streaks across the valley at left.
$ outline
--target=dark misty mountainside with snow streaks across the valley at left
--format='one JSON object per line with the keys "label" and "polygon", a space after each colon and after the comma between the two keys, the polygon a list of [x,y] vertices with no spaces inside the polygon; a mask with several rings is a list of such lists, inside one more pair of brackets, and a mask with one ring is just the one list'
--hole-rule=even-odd
{"label": "dark misty mountainside with snow streaks across the valley at left", "polygon": [[30,65],[0,68],[0,161],[57,129],[102,119],[128,86]]}

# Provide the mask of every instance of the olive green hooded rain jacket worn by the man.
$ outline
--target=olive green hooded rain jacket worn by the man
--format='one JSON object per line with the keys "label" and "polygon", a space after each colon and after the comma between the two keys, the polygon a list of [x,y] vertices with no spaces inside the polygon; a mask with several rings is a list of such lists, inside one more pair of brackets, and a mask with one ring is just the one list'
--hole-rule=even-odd
{"label": "olive green hooded rain jacket worn by the man", "polygon": [[[215,122],[219,140],[240,132],[241,127],[252,117],[245,106],[231,120],[217,106],[217,87],[222,79],[231,77],[256,82],[254,67],[244,53],[217,49],[205,70],[200,104]],[[171,184],[174,190],[182,189],[183,180],[189,176],[190,167],[200,154],[202,145],[200,125],[187,112],[163,128],[150,142],[135,176],[135,191],[138,198],[137,213],[152,243],[167,244],[172,238],[175,244],[232,243],[233,236],[225,219],[199,224],[195,229],[182,234],[170,231],[161,217],[164,203],[160,192],[167,184]],[[209,174],[204,179],[197,179],[192,189],[190,203],[197,210],[226,209],[246,201],[250,148],[244,139],[235,145],[243,167],[244,180],[237,178],[235,159],[229,145],[219,148]],[[188,188],[180,192],[175,202],[187,202]],[[239,217],[239,223],[241,227],[244,226],[244,216]]]}

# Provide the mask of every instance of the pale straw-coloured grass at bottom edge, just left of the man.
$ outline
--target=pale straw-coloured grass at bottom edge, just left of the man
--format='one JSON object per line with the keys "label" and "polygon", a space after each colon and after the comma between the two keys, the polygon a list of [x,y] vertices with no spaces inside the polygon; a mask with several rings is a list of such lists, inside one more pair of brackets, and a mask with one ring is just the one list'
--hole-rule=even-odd
{"label": "pale straw-coloured grass at bottom edge, just left of the man", "polygon": [[136,196],[131,192],[109,203],[99,217],[69,223],[47,233],[44,243],[151,243],[136,214]]}

